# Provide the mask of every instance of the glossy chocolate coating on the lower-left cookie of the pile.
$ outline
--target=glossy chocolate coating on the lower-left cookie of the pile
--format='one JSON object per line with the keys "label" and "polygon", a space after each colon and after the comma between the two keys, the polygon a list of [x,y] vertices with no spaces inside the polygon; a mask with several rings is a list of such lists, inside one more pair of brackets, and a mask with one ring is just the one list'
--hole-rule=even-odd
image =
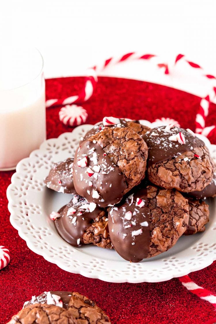
{"label": "glossy chocolate coating on the lower-left cookie of the pile", "polygon": [[[84,243],[83,236],[89,232],[92,222],[105,217],[105,211],[95,203],[88,203],[85,198],[74,195],[73,199],[59,211],[60,217],[55,220],[59,235],[72,246]],[[89,242],[89,243],[93,243]],[[85,243],[87,244],[87,243]]]}

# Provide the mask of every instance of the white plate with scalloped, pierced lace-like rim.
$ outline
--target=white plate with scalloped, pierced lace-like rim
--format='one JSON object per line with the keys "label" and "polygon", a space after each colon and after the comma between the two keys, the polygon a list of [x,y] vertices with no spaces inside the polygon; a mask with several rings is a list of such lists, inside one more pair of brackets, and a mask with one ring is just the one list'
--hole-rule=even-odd
{"label": "white plate with scalloped, pierced lace-like rim", "polygon": [[[71,195],[43,185],[53,162],[74,156],[79,139],[92,125],[75,128],[45,141],[39,150],[17,165],[7,189],[10,222],[29,249],[61,269],[108,282],[160,282],[203,269],[216,260],[216,203],[209,199],[210,222],[203,233],[182,236],[169,251],[139,263],[123,260],[115,250],[95,246],[74,248],[56,232],[49,214],[58,211]],[[216,145],[210,147],[216,158]]]}

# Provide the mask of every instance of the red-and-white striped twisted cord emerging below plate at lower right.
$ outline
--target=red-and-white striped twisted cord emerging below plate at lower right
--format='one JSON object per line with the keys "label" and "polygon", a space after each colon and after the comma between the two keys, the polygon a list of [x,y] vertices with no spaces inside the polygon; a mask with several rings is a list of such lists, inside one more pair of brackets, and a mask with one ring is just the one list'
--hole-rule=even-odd
{"label": "red-and-white striped twisted cord emerging below plate at lower right", "polygon": [[212,294],[208,289],[195,284],[188,275],[179,277],[178,279],[183,286],[188,289],[188,291],[194,295],[197,295],[199,298],[208,301],[216,310],[216,295]]}

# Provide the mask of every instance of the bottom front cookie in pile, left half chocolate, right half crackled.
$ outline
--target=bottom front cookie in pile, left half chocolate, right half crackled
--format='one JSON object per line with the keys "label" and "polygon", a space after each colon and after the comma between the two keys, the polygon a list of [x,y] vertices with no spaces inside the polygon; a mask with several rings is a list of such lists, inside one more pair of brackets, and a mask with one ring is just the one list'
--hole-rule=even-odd
{"label": "bottom front cookie in pile, left half chocolate, right half crackled", "polygon": [[180,192],[147,186],[109,208],[109,235],[122,258],[139,262],[174,246],[188,218],[188,201]]}

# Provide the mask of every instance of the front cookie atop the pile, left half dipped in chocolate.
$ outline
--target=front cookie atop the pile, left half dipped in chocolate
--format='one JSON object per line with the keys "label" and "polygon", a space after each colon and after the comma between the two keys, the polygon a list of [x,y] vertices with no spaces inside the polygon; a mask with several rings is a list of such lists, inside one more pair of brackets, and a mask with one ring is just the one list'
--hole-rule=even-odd
{"label": "front cookie atop the pile, left half dipped in chocolate", "polygon": [[147,156],[147,145],[131,129],[105,129],[76,150],[75,190],[101,207],[119,203],[145,177]]}

